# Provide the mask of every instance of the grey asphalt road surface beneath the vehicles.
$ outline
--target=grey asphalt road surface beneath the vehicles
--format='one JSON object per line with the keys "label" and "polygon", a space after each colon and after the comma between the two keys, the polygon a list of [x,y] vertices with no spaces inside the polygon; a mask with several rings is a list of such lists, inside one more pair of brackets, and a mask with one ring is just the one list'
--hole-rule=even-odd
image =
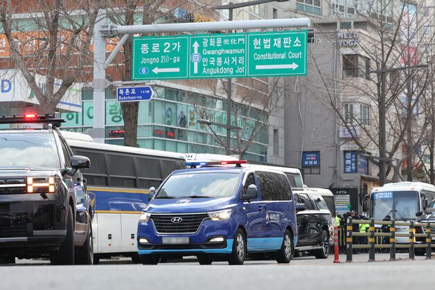
{"label": "grey asphalt road surface beneath the vehicles", "polygon": [[[332,263],[299,257],[290,264],[247,261],[243,266],[215,262],[201,266],[194,260],[157,266],[131,264],[130,260],[102,260],[94,266],[50,266],[44,260],[17,260],[0,266],[0,289],[422,289],[433,282],[435,259],[398,260],[377,254],[354,255],[353,263]],[[340,257],[345,260],[344,256]]]}

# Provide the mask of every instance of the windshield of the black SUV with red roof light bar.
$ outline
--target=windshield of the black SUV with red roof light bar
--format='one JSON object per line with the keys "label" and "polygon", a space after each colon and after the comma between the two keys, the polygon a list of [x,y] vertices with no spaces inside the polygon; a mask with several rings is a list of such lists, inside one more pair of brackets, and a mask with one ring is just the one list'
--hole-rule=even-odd
{"label": "windshield of the black SUV with red roof light bar", "polygon": [[2,133],[0,156],[0,167],[60,167],[53,134]]}

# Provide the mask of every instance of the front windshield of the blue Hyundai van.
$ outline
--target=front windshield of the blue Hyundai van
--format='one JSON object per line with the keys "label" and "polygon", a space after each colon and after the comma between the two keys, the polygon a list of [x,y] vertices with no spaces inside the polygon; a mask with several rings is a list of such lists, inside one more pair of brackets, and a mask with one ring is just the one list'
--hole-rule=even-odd
{"label": "front windshield of the blue Hyundai van", "polygon": [[236,194],[239,177],[238,173],[222,172],[175,174],[161,186],[155,198],[231,197]]}

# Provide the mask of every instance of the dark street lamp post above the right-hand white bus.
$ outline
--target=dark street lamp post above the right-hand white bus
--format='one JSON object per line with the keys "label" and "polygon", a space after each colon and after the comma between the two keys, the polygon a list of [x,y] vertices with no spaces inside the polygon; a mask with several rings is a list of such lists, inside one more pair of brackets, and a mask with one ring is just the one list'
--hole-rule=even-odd
{"label": "dark street lamp post above the right-hand white bus", "polygon": [[380,145],[379,145],[379,183],[380,185],[384,185],[385,181],[387,181],[385,163],[386,161],[390,161],[391,159],[387,158],[387,145],[386,145],[386,128],[385,128],[385,117],[387,115],[386,105],[385,105],[385,85],[387,79],[387,73],[391,73],[393,71],[402,71],[404,69],[417,69],[427,67],[427,64],[419,64],[417,66],[402,66],[393,69],[380,69],[379,71],[369,71],[369,73],[376,73],[381,75],[381,94],[380,94]]}

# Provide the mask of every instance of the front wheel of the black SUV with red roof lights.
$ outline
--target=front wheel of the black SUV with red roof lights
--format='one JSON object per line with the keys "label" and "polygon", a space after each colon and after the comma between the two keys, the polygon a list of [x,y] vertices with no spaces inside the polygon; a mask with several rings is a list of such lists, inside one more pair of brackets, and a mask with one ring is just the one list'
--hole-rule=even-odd
{"label": "front wheel of the black SUV with red roof lights", "polygon": [[54,265],[74,264],[74,221],[71,206],[68,206],[66,214],[66,237],[60,244],[59,251],[51,253],[50,262]]}

